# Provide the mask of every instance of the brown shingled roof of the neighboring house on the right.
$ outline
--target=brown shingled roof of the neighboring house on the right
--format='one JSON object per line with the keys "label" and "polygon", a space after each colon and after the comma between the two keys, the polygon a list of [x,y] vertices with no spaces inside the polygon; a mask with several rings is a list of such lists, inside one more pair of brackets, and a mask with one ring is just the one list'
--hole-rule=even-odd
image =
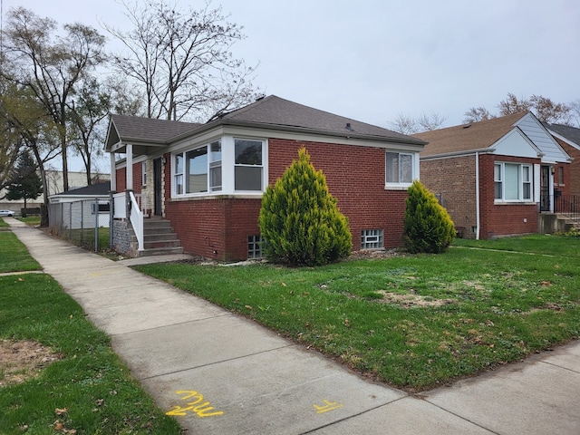
{"label": "brown shingled roof of the neighboring house on the right", "polygon": [[514,124],[527,115],[527,111],[502,116],[487,121],[426,131],[413,135],[429,144],[420,152],[420,157],[460,153],[471,150],[486,150],[514,128]]}

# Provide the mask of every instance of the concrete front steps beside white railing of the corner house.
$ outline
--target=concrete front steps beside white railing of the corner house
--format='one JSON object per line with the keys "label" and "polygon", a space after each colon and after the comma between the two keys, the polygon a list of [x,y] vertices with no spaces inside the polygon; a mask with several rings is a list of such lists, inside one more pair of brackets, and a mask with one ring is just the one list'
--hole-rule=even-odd
{"label": "concrete front steps beside white railing of the corner house", "polygon": [[143,219],[143,238],[144,250],[138,251],[137,237],[131,237],[131,246],[136,256],[183,254],[183,247],[169,220],[157,217]]}

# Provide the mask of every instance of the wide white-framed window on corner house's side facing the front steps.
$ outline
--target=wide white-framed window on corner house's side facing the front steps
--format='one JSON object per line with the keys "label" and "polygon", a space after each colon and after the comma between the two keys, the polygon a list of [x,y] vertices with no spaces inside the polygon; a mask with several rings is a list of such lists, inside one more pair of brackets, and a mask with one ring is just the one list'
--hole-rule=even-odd
{"label": "wide white-framed window on corner house's side facing the front steps", "polygon": [[174,191],[176,195],[221,190],[221,143],[187,150],[174,158]]}

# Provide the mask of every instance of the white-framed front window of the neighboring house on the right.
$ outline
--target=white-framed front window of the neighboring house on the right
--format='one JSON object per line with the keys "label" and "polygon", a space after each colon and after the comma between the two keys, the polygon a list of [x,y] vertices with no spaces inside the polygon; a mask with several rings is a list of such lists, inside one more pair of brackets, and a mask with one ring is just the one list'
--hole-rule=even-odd
{"label": "white-framed front window of the neighboring house on the right", "polygon": [[532,200],[532,167],[520,163],[494,164],[495,198],[501,201]]}

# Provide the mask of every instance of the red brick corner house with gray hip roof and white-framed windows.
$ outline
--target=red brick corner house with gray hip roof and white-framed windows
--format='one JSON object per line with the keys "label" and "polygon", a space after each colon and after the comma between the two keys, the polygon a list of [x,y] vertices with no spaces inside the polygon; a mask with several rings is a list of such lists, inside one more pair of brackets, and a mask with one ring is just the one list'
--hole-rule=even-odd
{"label": "red brick corner house with gray hip roof and white-framed windows", "polygon": [[268,96],[205,124],[112,115],[106,150],[113,190],[141,194],[146,214],[169,219],[186,252],[234,260],[260,256],[262,194],[302,146],[349,218],[353,249],[401,246],[424,144]]}

